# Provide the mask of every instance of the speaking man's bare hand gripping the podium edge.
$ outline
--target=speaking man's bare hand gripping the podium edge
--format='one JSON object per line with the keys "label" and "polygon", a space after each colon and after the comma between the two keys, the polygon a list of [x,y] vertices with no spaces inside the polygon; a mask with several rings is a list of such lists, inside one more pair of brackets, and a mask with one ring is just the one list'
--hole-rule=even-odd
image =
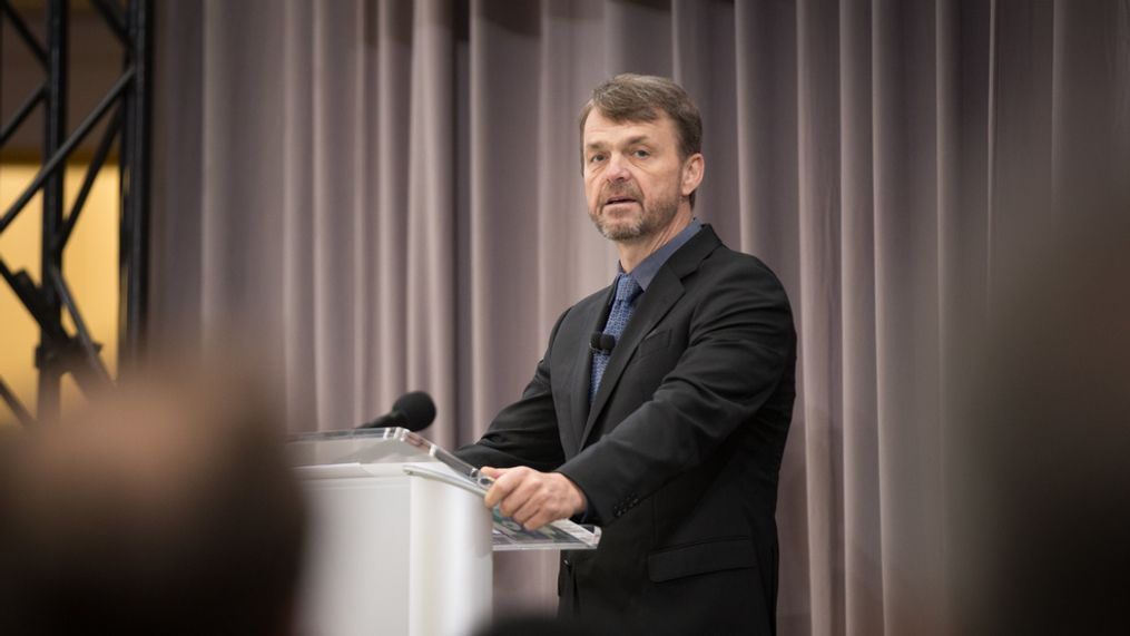
{"label": "speaking man's bare hand gripping the podium edge", "polygon": [[483,474],[495,480],[484,499],[502,514],[513,517],[527,530],[568,519],[584,511],[584,494],[559,472],[538,472],[532,468],[483,467]]}

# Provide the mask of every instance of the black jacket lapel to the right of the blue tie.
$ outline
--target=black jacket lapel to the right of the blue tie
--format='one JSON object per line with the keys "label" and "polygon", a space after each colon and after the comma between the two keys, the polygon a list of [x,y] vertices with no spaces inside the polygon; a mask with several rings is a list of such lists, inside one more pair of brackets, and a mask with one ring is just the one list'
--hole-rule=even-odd
{"label": "black jacket lapel to the right of the blue tie", "polygon": [[[635,312],[632,314],[632,320],[628,321],[627,328],[616,342],[616,348],[612,349],[612,355],[608,359],[608,367],[605,369],[605,375],[600,381],[600,389],[597,390],[597,395],[591,407],[588,411],[583,409],[574,411],[574,420],[577,418],[576,413],[588,412],[588,418],[584,420],[583,430],[577,444],[579,450],[584,447],[585,441],[592,434],[600,411],[603,410],[612,392],[616,390],[620,375],[624,373],[628,360],[635,354],[640,342],[645,336],[651,333],[675,303],[683,297],[683,278],[696,270],[698,263],[721,244],[713,228],[709,225],[703,225],[703,228],[694,238],[671,254],[671,258],[659,269],[655,278],[647,286],[647,291],[640,296]],[[593,331],[599,328],[594,328]],[[588,400],[589,381],[592,375],[592,355],[588,354],[588,358],[589,361],[584,365],[586,373],[584,376],[583,399],[585,401]],[[574,389],[576,387],[577,385],[574,384]],[[576,395],[574,395],[575,399]]]}

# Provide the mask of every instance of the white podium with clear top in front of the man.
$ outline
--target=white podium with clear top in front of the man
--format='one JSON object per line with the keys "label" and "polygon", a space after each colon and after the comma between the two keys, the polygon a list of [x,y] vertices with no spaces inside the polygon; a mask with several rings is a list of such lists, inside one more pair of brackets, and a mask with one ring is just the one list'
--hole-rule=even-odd
{"label": "white podium with clear top in front of the man", "polygon": [[489,619],[492,515],[437,447],[401,428],[288,447],[311,511],[299,633],[462,636]]}

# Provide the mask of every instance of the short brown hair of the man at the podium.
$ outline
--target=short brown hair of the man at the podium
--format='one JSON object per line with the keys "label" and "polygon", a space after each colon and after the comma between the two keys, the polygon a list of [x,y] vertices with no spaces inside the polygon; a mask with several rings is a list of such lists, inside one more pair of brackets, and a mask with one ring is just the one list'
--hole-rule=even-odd
{"label": "short brown hair of the man at the podium", "polygon": [[[702,153],[703,120],[698,106],[681,86],[666,77],[620,73],[592,89],[592,97],[581,108],[581,139],[584,143],[584,122],[593,108],[609,120],[620,122],[652,122],[666,114],[675,122],[679,136],[679,158]],[[584,149],[581,150],[584,162]],[[690,193],[690,204],[695,193]]]}

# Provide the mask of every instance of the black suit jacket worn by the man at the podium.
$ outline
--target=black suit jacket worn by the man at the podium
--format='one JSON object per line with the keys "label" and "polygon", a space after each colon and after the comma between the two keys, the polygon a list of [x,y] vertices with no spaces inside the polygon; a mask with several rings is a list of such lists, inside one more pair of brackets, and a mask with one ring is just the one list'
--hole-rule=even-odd
{"label": "black suit jacket worn by the man at the podium", "polygon": [[560,610],[655,634],[774,631],[777,473],[796,332],[777,278],[704,226],[659,270],[589,404],[611,287],[570,307],[522,399],[459,454],[572,479],[602,526]]}

